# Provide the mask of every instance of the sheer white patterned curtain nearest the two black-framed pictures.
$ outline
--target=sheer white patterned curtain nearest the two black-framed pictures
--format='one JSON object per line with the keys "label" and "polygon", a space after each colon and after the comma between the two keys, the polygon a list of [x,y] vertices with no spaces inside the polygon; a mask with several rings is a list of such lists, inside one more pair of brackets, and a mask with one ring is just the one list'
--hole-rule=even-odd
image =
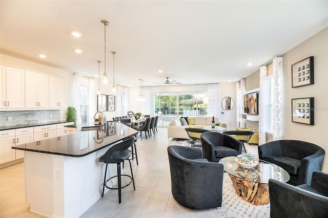
{"label": "sheer white patterned curtain nearest the two black-framed pictures", "polygon": [[282,139],[282,57],[275,57],[273,63],[273,140]]}

